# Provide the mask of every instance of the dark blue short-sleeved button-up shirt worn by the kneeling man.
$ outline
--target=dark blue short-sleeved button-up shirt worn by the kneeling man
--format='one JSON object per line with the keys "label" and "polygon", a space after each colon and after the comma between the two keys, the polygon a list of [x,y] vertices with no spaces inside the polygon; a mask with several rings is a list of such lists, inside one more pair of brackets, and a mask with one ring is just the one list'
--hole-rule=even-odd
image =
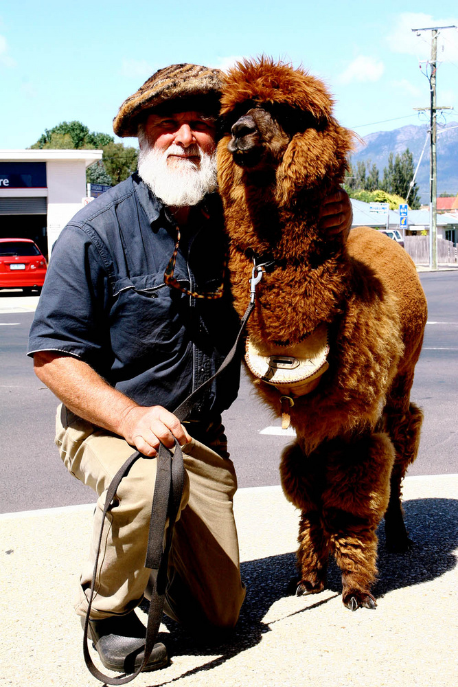
{"label": "dark blue short-sleeved button-up shirt worn by the kneeling man", "polygon": [[[140,405],[169,410],[214,374],[231,348],[238,317],[229,285],[216,300],[164,284],[176,227],[137,174],[84,207],[56,241],[28,354],[78,357]],[[218,196],[192,209],[175,277],[190,291],[212,291],[224,272],[225,236]],[[193,418],[231,405],[240,360],[196,403]]]}

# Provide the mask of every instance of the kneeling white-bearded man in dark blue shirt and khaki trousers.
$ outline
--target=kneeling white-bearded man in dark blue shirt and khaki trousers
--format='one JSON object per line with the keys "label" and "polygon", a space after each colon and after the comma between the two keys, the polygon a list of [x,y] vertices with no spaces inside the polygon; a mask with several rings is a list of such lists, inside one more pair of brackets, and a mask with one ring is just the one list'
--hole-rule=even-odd
{"label": "kneeling white-bearded man in dark blue shirt and khaki trousers", "polygon": [[[114,130],[138,135],[138,173],[62,231],[30,333],[36,374],[62,401],[62,460],[98,493],[80,616],[106,489],[134,449],[143,455],[108,512],[89,624],[102,663],[115,671],[126,670],[128,656],[144,644],[133,609],[150,577],[144,561],[160,443],[172,448],[179,441],[186,473],[165,612],[206,633],[233,627],[244,598],[232,511],[236,475],[220,422],[236,398],[240,361],[202,394],[187,422],[172,412],[214,374],[238,330],[216,194],[219,88],[216,69],[172,65],[122,104]],[[332,196],[322,215],[324,229],[347,231],[346,194]],[[141,660],[140,653],[135,667]],[[166,662],[158,642],[148,669]]]}

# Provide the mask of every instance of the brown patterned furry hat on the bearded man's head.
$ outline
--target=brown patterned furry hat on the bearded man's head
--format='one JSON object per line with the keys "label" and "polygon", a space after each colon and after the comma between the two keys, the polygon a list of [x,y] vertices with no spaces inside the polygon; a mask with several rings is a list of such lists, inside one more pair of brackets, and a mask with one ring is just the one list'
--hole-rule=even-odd
{"label": "brown patterned furry hat on the bearded man's head", "polygon": [[[170,65],[155,72],[136,93],[124,100],[113,120],[117,136],[137,136],[145,111],[173,100],[183,109],[219,112],[222,72],[199,65]],[[176,104],[180,104],[177,102]]]}

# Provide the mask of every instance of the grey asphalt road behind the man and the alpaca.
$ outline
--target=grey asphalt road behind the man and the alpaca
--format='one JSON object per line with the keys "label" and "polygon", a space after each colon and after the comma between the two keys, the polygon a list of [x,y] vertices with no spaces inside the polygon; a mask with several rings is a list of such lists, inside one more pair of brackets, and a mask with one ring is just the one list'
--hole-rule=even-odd
{"label": "grey asphalt road behind the man and the alpaca", "polygon": [[[429,315],[412,400],[425,420],[409,475],[458,473],[458,271],[420,278]],[[25,310],[34,300],[18,295],[0,291],[0,512],[92,503],[92,491],[70,477],[54,447],[57,401],[25,356],[33,313],[16,307],[19,302]],[[279,484],[279,453],[291,436],[282,433],[245,376],[223,422],[239,486]]]}

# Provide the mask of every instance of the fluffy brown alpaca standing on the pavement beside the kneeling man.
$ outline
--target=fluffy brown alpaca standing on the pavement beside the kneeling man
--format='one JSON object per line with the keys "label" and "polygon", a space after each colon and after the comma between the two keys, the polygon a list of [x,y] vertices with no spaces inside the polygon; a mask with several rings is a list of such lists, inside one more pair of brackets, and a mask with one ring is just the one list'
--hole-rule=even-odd
{"label": "fluffy brown alpaca standing on the pavement beside the kneeling man", "polygon": [[[286,497],[301,509],[297,594],[323,589],[334,554],[343,603],[374,608],[383,515],[387,545],[411,545],[400,495],[422,424],[409,400],[426,324],[422,286],[407,253],[386,236],[362,227],[344,244],[317,228],[324,196],[343,181],[353,139],[332,116],[319,80],[265,58],[245,60],[225,80],[222,118],[218,182],[240,315],[253,254],[274,261],[256,287],[249,339],[287,352],[328,327],[328,370],[310,393],[289,394],[297,440],[280,466]],[[284,392],[255,381],[281,415]]]}

